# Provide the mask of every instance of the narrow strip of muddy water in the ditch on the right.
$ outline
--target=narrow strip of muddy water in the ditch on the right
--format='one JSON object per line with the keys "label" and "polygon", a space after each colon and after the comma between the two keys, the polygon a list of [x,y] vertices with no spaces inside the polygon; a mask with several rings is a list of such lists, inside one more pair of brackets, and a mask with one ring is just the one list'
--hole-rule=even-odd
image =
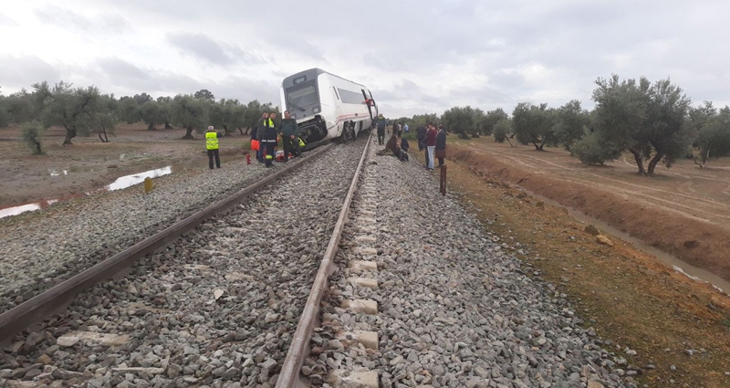
{"label": "narrow strip of muddy water in the ditch on the right", "polygon": [[644,252],[646,254],[649,254],[649,255],[652,255],[653,257],[658,258],[659,261],[661,261],[668,267],[672,267],[673,270],[682,273],[683,275],[687,276],[688,278],[692,278],[695,281],[702,281],[704,283],[709,283],[711,286],[713,286],[715,289],[717,289],[718,291],[720,291],[721,293],[723,293],[725,295],[728,295],[727,292],[730,292],[730,281],[727,281],[724,278],[720,278],[717,275],[714,275],[714,273],[712,273],[706,269],[694,267],[693,265],[683,261],[679,257],[670,255],[653,246],[646,245],[640,239],[638,239],[634,236],[631,236],[626,232],[622,232],[619,229],[617,229],[611,225],[608,225],[607,223],[604,223],[603,221],[600,221],[599,219],[590,217],[589,215],[584,215],[583,213],[580,213],[578,210],[563,206],[562,204],[558,204],[557,201],[553,201],[542,195],[534,194],[532,192],[529,192],[529,193],[530,193],[530,195],[534,196],[535,198],[539,199],[542,202],[545,202],[546,204],[551,204],[553,206],[556,206],[559,208],[564,208],[564,209],[568,210],[568,215],[571,215],[573,218],[575,218],[579,221],[582,221],[585,224],[594,225],[598,229],[603,230],[612,236],[619,237],[621,240],[630,243],[631,246],[635,247],[636,249],[640,250],[641,252]]}

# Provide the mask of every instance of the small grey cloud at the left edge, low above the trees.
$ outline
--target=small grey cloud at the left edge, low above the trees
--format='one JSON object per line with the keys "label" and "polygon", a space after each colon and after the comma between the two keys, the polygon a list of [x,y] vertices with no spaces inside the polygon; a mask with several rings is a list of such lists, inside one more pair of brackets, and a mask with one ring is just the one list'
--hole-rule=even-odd
{"label": "small grey cloud at the left edge, low above the trees", "polygon": [[0,57],[0,86],[12,89],[30,88],[36,82],[60,80],[57,67],[35,56]]}

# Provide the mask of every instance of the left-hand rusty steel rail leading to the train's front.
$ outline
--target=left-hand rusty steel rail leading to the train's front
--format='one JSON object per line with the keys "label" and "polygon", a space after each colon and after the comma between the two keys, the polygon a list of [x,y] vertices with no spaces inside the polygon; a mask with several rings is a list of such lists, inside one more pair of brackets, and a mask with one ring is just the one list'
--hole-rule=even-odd
{"label": "left-hand rusty steel rail leading to the train's front", "polygon": [[0,343],[12,340],[16,333],[26,330],[47,317],[66,309],[68,304],[83,290],[101,281],[113,278],[114,275],[131,267],[148,253],[168,246],[180,236],[183,236],[185,232],[193,230],[205,219],[230,209],[249,195],[261,190],[267,184],[276,181],[282,175],[297,169],[305,163],[316,160],[324,152],[327,152],[332,145],[330,143],[319,148],[303,157],[301,162],[288,165],[276,173],[267,175],[255,184],[250,184],[234,194],[206,206],[193,215],[82,271],[73,278],[68,278],[53,288],[36,295],[36,297],[5,311],[0,314]]}

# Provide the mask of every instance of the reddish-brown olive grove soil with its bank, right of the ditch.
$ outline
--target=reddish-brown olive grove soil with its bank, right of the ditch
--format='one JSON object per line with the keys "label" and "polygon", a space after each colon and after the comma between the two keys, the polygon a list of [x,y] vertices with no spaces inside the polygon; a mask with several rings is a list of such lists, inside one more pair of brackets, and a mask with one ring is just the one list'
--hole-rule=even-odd
{"label": "reddish-brown olive grove soil with its bank, right of the ditch", "polygon": [[511,147],[491,139],[455,141],[450,158],[599,219],[646,244],[730,280],[730,161],[700,169],[692,161],[641,176],[624,156],[586,166],[551,148]]}

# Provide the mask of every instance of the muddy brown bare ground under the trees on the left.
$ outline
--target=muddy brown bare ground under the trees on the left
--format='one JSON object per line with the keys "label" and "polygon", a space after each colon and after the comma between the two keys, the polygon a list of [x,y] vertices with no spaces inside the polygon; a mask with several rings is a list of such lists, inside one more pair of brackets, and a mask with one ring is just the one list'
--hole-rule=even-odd
{"label": "muddy brown bare ground under the trees on the left", "polygon": [[[184,130],[147,131],[144,124],[121,124],[110,142],[76,137],[62,145],[66,131],[51,128],[43,138],[43,155],[33,155],[20,142],[20,129],[0,129],[0,208],[41,200],[69,198],[99,189],[130,173],[177,165],[207,164],[202,135],[183,140]],[[220,140],[221,156],[241,157],[248,136]]]}

